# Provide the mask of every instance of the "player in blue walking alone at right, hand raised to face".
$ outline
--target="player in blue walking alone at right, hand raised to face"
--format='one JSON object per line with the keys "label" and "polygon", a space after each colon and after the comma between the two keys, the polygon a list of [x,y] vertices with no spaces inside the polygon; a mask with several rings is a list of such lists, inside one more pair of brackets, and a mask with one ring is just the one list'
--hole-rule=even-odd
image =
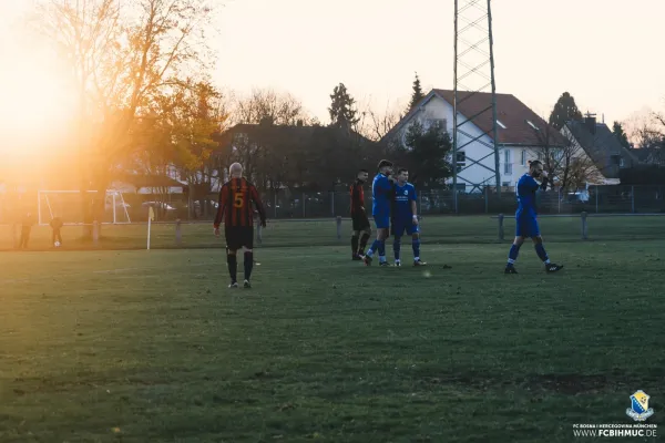
{"label": "player in blue walking alone at right, hand raised to face", "polygon": [[[535,181],[541,179],[539,185]],[[535,245],[535,253],[539,258],[545,264],[546,272],[556,272],[561,270],[563,266],[555,265],[550,261],[548,253],[543,246],[543,238],[540,234],[536,219],[536,207],[535,207],[535,193],[539,189],[545,190],[548,188],[548,174],[543,171],[543,164],[540,161],[529,162],[529,172],[524,174],[518,182],[518,212],[515,213],[516,230],[515,239],[510,248],[508,255],[508,265],[505,265],[505,274],[518,274],[515,269],[515,260],[520,253],[520,247],[524,243],[525,238],[533,240]]]}

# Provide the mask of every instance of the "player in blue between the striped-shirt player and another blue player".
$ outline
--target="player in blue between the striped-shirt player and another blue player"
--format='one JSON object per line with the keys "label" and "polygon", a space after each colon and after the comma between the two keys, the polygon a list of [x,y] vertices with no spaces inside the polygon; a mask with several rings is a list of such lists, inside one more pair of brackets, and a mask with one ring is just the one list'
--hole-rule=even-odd
{"label": "player in blue between the striped-shirt player and another blue player", "polygon": [[379,162],[379,173],[371,184],[371,215],[377,226],[377,239],[374,240],[369,250],[362,257],[365,265],[371,265],[372,256],[379,251],[379,266],[390,266],[386,261],[386,239],[390,228],[390,208],[392,206],[392,187],[395,178],[392,174],[392,162],[382,159]]}

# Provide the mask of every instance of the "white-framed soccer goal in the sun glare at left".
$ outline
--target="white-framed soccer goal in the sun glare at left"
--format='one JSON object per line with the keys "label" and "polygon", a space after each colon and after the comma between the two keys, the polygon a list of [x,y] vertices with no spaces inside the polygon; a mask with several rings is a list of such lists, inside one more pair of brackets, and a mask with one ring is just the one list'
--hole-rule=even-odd
{"label": "white-framed soccer goal in the sun glare at left", "polygon": [[[83,204],[92,205],[96,194],[96,190],[86,190],[88,202],[82,202],[80,190],[38,190],[38,224],[49,225],[58,216],[65,225],[82,225]],[[131,223],[130,208],[120,190],[106,190],[104,215],[100,222],[114,225]]]}

